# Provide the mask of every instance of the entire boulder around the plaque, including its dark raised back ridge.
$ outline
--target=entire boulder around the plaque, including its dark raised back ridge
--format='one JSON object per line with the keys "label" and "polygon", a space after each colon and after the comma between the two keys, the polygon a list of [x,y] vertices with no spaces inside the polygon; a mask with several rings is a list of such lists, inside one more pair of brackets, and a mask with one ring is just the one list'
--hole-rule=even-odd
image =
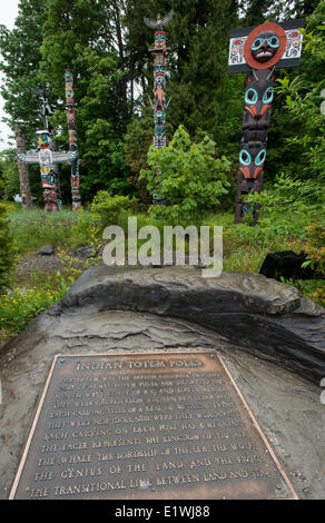
{"label": "entire boulder around the plaque, including its dark raised back ridge", "polygon": [[195,269],[87,270],[0,353],[0,499],[9,495],[55,355],[193,349],[219,351],[298,497],[324,499],[322,328],[319,307],[258,275],[205,280]]}

